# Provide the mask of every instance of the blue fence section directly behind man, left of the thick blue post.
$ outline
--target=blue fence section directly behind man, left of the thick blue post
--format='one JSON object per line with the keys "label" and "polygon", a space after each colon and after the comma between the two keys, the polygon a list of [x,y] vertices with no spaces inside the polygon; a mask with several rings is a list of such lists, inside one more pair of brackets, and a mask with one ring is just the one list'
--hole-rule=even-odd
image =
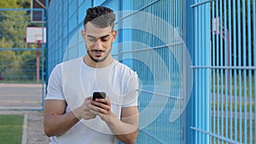
{"label": "blue fence section directly behind man, left of the thick blue post", "polygon": [[[183,2],[52,1],[48,20],[48,75],[57,63],[85,54],[80,29],[86,9],[103,5],[122,12],[116,14],[115,28],[119,35],[112,54],[137,71],[141,80],[137,143],[183,143],[182,112],[187,98],[181,94],[189,93],[183,90],[183,83],[190,76],[183,70],[189,68],[183,62],[189,63],[182,39]],[[133,11],[124,12],[127,10]]]}

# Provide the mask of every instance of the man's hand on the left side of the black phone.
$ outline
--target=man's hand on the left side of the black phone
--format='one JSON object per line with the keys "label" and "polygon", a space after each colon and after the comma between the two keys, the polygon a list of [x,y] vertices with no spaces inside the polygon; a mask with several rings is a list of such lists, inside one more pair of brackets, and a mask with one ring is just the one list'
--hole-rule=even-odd
{"label": "man's hand on the left side of the black phone", "polygon": [[93,112],[90,112],[91,111],[90,105],[92,102],[93,102],[92,97],[87,97],[84,100],[84,103],[80,107],[76,108],[73,111],[75,116],[79,119],[81,119],[81,118],[84,118],[84,119],[96,118],[96,114],[94,114]]}

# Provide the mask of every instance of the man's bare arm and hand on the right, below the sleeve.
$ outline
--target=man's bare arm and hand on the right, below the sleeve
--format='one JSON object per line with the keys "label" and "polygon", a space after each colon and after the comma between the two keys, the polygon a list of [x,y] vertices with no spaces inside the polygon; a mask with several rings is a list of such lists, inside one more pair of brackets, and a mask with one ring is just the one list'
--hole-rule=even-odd
{"label": "man's bare arm and hand on the right, below the sleeve", "polygon": [[121,119],[117,118],[111,111],[111,101],[108,99],[96,99],[91,101],[90,112],[98,115],[108,124],[113,135],[123,143],[135,143],[138,130],[138,109],[137,107],[122,108]]}

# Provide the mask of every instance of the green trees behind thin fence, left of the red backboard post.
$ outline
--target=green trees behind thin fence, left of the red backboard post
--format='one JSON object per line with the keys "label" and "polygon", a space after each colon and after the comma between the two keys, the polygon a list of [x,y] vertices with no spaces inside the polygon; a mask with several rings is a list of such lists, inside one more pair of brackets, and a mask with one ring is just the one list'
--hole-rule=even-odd
{"label": "green trees behind thin fence, left of the red backboard post", "polygon": [[[31,0],[0,1],[5,9],[30,8]],[[26,43],[26,27],[38,26],[30,21],[30,11],[0,11],[0,74],[5,81],[31,81],[36,78],[36,52],[15,51],[36,49],[36,43]],[[10,50],[8,50],[10,49]]]}

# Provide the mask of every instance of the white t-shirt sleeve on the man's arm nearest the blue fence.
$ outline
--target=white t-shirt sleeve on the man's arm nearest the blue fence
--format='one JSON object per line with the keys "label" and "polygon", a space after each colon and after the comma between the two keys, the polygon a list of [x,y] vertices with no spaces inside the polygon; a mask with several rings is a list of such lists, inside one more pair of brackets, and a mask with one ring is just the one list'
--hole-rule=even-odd
{"label": "white t-shirt sleeve on the man's arm nearest the blue fence", "polygon": [[122,107],[134,107],[137,106],[138,97],[138,79],[137,73],[134,72],[133,76],[128,79],[127,88],[124,95]]}

